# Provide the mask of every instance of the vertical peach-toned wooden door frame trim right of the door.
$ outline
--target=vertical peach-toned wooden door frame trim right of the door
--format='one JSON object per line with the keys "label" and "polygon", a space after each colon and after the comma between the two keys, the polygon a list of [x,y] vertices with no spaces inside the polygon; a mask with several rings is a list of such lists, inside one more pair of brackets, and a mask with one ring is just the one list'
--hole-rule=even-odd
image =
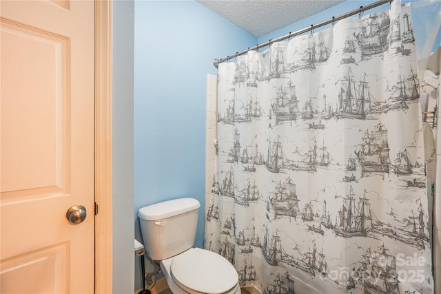
{"label": "vertical peach-toned wooden door frame trim right of the door", "polygon": [[95,1],[95,293],[112,293],[112,1]]}

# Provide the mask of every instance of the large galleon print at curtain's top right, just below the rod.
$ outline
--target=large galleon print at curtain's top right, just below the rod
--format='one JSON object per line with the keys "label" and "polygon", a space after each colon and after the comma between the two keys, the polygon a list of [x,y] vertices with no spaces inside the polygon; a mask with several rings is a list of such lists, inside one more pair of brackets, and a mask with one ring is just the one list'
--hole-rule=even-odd
{"label": "large galleon print at curtain's top right, just below the rod", "polygon": [[358,45],[360,45],[361,54],[369,56],[387,50],[389,45],[389,14],[373,13],[362,20],[365,22],[365,25],[353,33]]}

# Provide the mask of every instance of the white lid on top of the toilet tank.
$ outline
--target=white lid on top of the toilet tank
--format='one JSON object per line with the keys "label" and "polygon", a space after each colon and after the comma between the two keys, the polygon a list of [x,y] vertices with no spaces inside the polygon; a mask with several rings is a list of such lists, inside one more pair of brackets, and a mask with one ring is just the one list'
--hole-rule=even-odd
{"label": "white lid on top of the toilet tank", "polygon": [[143,220],[162,220],[201,207],[194,198],[178,198],[142,207],[138,216]]}

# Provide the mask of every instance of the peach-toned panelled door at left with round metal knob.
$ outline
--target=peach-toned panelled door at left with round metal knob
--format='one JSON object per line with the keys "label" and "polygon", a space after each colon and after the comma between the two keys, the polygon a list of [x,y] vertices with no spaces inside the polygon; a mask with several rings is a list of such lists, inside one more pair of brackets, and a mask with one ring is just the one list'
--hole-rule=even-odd
{"label": "peach-toned panelled door at left with round metal knob", "polygon": [[94,293],[94,1],[0,17],[0,293]]}

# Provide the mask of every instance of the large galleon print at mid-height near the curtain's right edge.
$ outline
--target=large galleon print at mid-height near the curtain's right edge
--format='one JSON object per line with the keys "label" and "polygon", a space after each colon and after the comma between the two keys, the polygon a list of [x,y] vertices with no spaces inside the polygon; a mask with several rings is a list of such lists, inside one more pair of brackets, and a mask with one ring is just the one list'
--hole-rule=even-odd
{"label": "large galleon print at mid-height near the curtain's right edge", "polygon": [[362,143],[354,151],[360,162],[362,171],[378,171],[389,173],[389,143],[387,142],[387,129],[378,123],[369,134],[366,130]]}

